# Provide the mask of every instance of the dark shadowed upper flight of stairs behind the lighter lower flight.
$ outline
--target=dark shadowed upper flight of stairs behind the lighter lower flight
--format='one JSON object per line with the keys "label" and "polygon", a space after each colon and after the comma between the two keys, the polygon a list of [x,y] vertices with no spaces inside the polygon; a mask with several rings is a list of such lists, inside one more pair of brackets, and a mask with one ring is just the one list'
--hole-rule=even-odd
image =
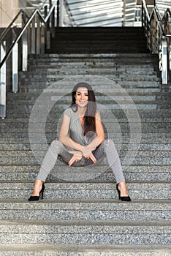
{"label": "dark shadowed upper flight of stairs behind the lighter lower flight", "polygon": [[140,27],[56,28],[47,53],[147,53]]}

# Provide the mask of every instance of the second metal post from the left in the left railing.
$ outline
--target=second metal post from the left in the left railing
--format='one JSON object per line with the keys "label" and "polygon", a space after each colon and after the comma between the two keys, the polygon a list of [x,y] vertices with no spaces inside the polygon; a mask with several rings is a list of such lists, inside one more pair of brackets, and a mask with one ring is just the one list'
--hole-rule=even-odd
{"label": "second metal post from the left in the left railing", "polygon": [[18,43],[12,49],[12,91],[18,92]]}

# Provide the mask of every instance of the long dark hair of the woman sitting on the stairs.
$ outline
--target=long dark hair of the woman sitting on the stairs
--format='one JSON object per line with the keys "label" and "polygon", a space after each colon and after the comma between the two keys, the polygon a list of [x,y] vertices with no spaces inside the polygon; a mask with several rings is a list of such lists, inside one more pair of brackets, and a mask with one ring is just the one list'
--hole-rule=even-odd
{"label": "long dark hair of the woman sitting on the stairs", "polygon": [[77,111],[77,104],[75,102],[75,94],[78,88],[85,87],[88,90],[88,105],[86,109],[86,113],[84,116],[84,126],[83,126],[83,135],[86,135],[87,132],[96,132],[96,97],[94,95],[94,91],[92,87],[85,82],[77,83],[74,89],[72,90],[72,104],[71,108],[73,111]]}

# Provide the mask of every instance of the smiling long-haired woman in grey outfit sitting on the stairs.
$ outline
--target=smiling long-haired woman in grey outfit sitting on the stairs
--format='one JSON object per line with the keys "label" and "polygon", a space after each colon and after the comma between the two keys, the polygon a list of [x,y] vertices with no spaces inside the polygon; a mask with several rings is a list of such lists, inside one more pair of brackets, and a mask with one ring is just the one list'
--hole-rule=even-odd
{"label": "smiling long-haired woman in grey outfit sitting on the stairs", "polygon": [[104,154],[113,170],[119,199],[130,201],[113,140],[104,139],[94,91],[88,83],[77,83],[72,91],[72,104],[64,111],[59,140],[51,143],[35,181],[34,191],[28,200],[39,200],[40,195],[43,198],[44,182],[56,164],[58,155],[69,166],[86,166],[96,163]]}

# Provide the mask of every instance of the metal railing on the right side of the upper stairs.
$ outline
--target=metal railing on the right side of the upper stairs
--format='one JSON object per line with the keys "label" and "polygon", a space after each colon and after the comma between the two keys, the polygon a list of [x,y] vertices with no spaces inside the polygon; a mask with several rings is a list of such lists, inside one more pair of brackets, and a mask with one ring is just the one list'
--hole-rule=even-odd
{"label": "metal railing on the right side of the upper stairs", "polygon": [[147,38],[147,47],[151,53],[159,55],[159,70],[161,71],[161,83],[168,83],[168,72],[171,70],[171,12],[166,10],[161,18],[158,8],[155,6],[148,14],[145,0],[142,0],[142,27]]}

